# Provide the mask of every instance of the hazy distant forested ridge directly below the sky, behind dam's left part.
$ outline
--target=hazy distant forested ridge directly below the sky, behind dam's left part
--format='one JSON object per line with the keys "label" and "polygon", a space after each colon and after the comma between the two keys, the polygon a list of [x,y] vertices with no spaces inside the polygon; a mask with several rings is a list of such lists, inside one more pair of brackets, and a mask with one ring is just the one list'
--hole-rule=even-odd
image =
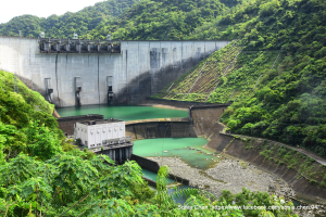
{"label": "hazy distant forested ridge directly below the sky, behind dam's left part", "polygon": [[[34,15],[16,16],[8,23],[0,24],[0,35],[18,36],[18,30],[22,30],[24,37],[38,37],[41,31],[45,31],[46,37],[51,38],[72,38],[74,33],[87,38],[88,33],[95,27],[114,20],[139,1],[106,0],[76,13],[67,12],[61,16],[53,14],[47,18]],[[48,9],[51,13],[51,8]]]}

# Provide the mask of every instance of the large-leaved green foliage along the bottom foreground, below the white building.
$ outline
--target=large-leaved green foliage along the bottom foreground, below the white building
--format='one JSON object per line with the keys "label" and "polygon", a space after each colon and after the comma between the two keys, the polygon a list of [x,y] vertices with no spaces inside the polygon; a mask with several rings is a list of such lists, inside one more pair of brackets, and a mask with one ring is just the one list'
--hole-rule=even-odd
{"label": "large-leaved green foliage along the bottom foreground, below the white building", "polygon": [[[3,216],[287,216],[292,210],[266,210],[283,204],[283,199],[246,189],[223,195],[212,202],[198,190],[167,194],[164,179],[167,167],[161,167],[158,194],[141,179],[141,169],[134,162],[121,166],[105,155],[87,159],[75,150],[46,162],[20,154],[0,166],[0,213]],[[139,188],[141,187],[141,189]],[[142,191],[146,200],[136,195]],[[187,195],[181,206],[173,201]],[[236,202],[233,204],[233,202]],[[244,209],[243,206],[266,206]],[[188,208],[185,208],[188,207]],[[192,207],[189,209],[189,207]]]}

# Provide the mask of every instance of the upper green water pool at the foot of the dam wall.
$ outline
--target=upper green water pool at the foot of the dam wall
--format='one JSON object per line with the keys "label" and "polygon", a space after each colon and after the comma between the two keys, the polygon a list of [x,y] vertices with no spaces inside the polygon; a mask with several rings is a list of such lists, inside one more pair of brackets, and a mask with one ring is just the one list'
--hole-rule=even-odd
{"label": "upper green water pool at the foot of the dam wall", "polygon": [[188,117],[187,111],[168,110],[152,106],[108,106],[108,105],[83,105],[80,107],[57,108],[61,117],[78,116],[87,114],[104,115],[104,118],[122,120]]}

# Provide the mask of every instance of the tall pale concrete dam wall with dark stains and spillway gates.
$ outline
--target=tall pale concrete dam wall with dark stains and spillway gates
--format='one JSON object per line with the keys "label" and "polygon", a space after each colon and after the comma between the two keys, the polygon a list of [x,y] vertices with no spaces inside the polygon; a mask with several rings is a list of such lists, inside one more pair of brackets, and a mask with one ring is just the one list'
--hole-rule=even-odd
{"label": "tall pale concrete dam wall with dark stains and spillway gates", "polygon": [[136,104],[227,43],[0,36],[0,69],[58,107]]}

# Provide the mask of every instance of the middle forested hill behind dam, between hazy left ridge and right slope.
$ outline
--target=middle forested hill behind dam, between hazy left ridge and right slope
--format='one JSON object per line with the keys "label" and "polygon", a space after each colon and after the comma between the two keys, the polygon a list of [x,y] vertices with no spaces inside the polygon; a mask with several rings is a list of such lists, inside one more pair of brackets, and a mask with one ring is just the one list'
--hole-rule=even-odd
{"label": "middle forested hill behind dam, between hazy left ridge and right slope", "polygon": [[227,9],[217,0],[143,0],[116,21],[99,25],[90,35],[101,38],[112,33],[114,38],[126,40],[181,40]]}

